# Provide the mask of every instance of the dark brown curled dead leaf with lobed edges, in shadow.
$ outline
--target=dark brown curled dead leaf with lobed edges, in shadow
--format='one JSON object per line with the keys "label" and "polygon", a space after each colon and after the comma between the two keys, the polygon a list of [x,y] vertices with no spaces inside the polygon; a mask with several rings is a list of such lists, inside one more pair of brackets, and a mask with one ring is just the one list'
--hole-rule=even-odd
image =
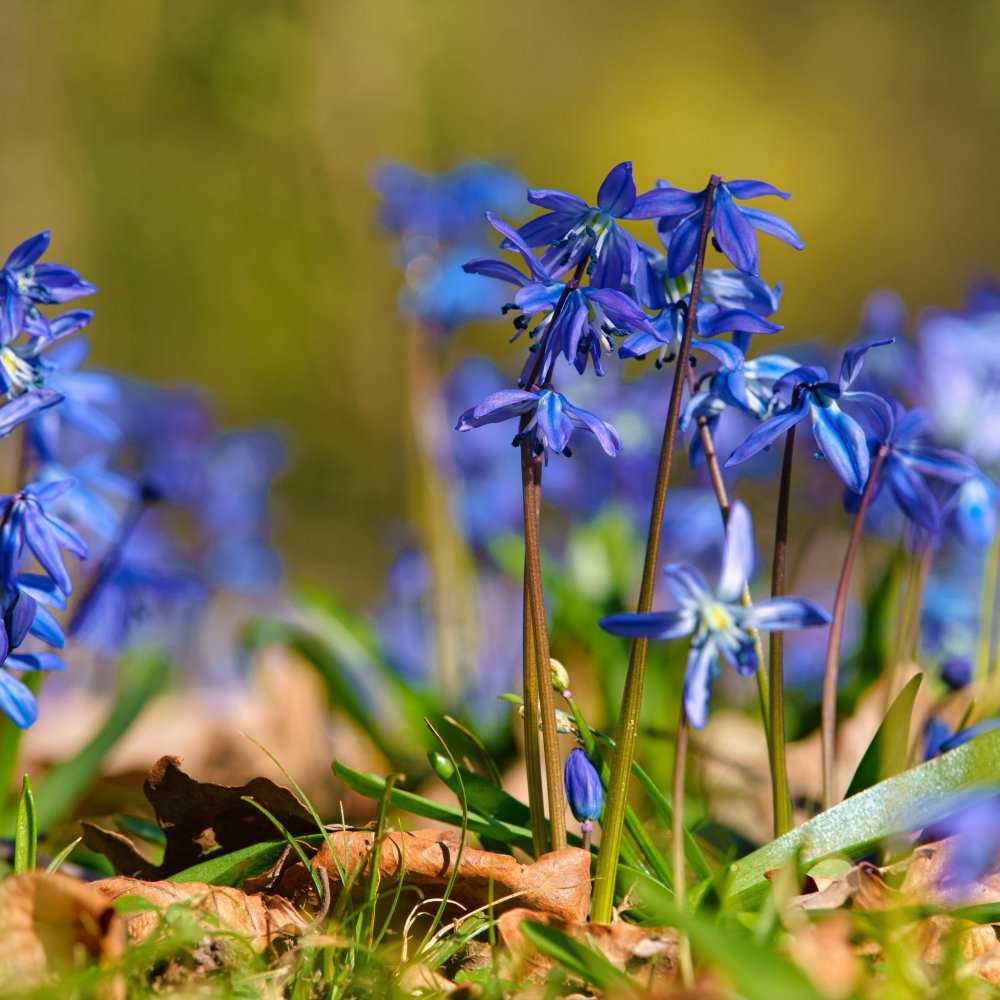
{"label": "dark brown curled dead leaf with lobed edges, in shadow", "polygon": [[260,803],[292,836],[316,832],[308,810],[287,789],[269,778],[245,785],[196,781],[180,768],[179,757],[161,757],[151,768],[143,791],[156,822],[166,835],[163,862],[153,865],[121,834],[84,824],[84,842],[99,851],[123,875],[155,881],[169,878],[220,849],[237,851],[278,836],[274,824],[244,796]]}

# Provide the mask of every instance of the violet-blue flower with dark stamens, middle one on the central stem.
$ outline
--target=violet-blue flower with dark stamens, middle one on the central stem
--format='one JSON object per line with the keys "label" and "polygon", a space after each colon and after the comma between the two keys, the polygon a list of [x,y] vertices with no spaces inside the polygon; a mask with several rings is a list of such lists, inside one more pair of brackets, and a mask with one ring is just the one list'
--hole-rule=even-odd
{"label": "violet-blue flower with dark stamens, middle one on the central stem", "polygon": [[[601,355],[614,348],[613,337],[626,336],[642,330],[656,336],[656,330],[641,307],[629,296],[613,288],[581,288],[575,281],[563,282],[551,274],[531,252],[520,235],[507,223],[492,213],[487,213],[490,224],[505,237],[504,244],[516,250],[528,266],[530,277],[522,274],[506,261],[491,258],[471,260],[465,269],[473,274],[506,281],[518,288],[512,307],[523,314],[515,321],[520,332],[531,325],[530,318],[541,315],[529,336],[534,341],[532,351],[545,344],[541,370],[551,365],[562,354],[567,361],[583,372],[587,358],[593,359],[594,370],[604,374]],[[556,306],[562,302],[558,316],[553,321]],[[521,385],[525,385],[529,372],[536,367],[536,359],[529,356]]]}

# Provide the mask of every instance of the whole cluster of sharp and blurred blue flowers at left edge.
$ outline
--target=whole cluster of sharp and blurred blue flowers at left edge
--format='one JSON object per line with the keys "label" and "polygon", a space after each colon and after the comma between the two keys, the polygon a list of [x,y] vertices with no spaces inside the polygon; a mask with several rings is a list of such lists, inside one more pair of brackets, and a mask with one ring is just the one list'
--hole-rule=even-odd
{"label": "whole cluster of sharp and blurred blue flowers at left edge", "polygon": [[[0,711],[21,728],[38,705],[11,671],[63,667],[44,648],[66,642],[52,610],[69,609],[66,632],[113,657],[140,634],[163,640],[170,624],[190,637],[211,590],[258,591],[279,572],[267,492],[280,443],[220,435],[192,392],[83,370],[89,344],[67,338],[93,313],[47,307],[97,289],[42,261],[48,247],[39,233],[0,271],[0,436],[21,427],[17,468],[29,480],[0,496]],[[178,512],[189,519],[179,530]],[[67,553],[93,557],[75,592]]]}

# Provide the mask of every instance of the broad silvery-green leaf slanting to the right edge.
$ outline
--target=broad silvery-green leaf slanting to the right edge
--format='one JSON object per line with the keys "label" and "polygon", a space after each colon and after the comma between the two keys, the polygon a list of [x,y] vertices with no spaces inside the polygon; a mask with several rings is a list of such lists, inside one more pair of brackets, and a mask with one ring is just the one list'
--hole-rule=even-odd
{"label": "broad silvery-green leaf slanting to the right edge", "polygon": [[831,854],[858,858],[880,841],[934,823],[956,795],[1000,783],[1000,729],[889,778],[820,813],[729,868],[728,909],[755,909],[765,897],[764,873],[801,854],[809,867]]}

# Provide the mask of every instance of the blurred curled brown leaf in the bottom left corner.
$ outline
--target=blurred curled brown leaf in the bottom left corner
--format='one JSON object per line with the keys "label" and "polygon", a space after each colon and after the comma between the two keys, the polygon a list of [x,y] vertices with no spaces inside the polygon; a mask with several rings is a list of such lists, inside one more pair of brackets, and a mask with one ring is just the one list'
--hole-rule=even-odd
{"label": "blurred curled brown leaf in the bottom left corner", "polygon": [[118,958],[125,932],[114,907],[92,886],[29,872],[0,882],[0,940],[0,983],[26,988],[46,973],[73,969],[81,951],[90,960]]}

